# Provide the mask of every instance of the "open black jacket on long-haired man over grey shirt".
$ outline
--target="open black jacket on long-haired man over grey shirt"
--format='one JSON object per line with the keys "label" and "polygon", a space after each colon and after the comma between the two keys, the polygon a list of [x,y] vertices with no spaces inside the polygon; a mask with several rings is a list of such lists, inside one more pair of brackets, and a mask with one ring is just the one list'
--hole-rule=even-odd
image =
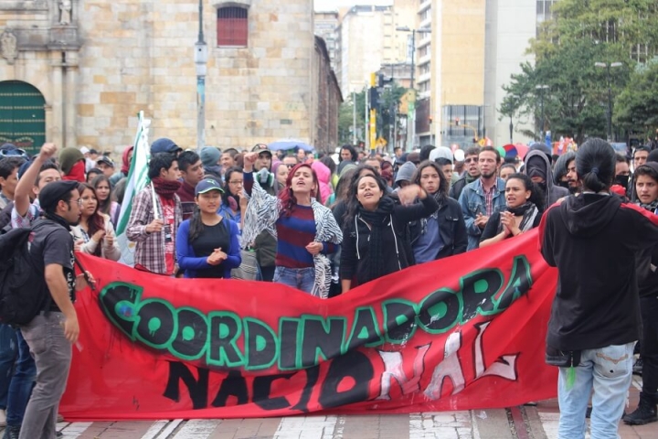
{"label": "open black jacket on long-haired man over grey shirt", "polygon": [[[436,259],[447,258],[455,254],[466,252],[468,247],[468,237],[466,235],[466,224],[463,219],[462,207],[450,197],[443,199],[439,210],[436,212],[436,220],[439,222],[439,233],[443,248],[437,255]],[[420,220],[409,222],[409,232],[411,235],[411,246],[413,247],[420,237],[421,232]]]}

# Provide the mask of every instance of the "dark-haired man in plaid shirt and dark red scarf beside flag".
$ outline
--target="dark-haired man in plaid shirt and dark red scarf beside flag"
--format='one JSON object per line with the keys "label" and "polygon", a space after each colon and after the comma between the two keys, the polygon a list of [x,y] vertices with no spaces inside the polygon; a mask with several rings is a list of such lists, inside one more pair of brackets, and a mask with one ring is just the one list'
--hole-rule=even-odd
{"label": "dark-haired man in plaid shirt and dark red scarf beside flag", "polygon": [[157,153],[149,161],[151,184],[133,199],[126,235],[135,246],[135,268],[171,276],[175,273],[175,235],[183,209],[176,191],[178,162],[175,155]]}

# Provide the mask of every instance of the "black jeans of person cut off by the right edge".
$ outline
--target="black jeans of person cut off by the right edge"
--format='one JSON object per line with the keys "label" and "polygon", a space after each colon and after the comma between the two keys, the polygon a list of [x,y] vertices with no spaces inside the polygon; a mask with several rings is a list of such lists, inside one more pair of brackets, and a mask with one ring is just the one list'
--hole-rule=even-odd
{"label": "black jeans of person cut off by the right edge", "polygon": [[658,399],[658,296],[640,297],[642,393]]}

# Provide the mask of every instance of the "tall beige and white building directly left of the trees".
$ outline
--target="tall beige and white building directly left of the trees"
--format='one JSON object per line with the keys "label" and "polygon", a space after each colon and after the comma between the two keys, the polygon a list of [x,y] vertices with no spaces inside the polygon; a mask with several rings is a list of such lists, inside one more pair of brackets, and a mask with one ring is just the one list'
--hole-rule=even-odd
{"label": "tall beige and white building directly left of the trees", "polygon": [[[502,116],[504,84],[533,62],[529,39],[551,17],[557,0],[432,0],[430,131],[437,145],[462,147],[488,137],[493,145],[527,143],[532,116]],[[417,124],[426,123],[419,114]],[[512,134],[510,135],[510,125]],[[422,129],[418,130],[422,132]],[[429,143],[421,137],[421,145]]]}

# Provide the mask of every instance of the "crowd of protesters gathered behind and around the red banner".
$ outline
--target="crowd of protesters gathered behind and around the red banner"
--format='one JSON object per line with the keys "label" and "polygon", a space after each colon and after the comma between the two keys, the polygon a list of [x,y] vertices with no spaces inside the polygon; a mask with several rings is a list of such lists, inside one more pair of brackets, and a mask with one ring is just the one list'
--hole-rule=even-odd
{"label": "crowd of protesters gathered behind and around the red banner", "polygon": [[[589,387],[568,389],[567,368],[560,368],[560,409],[566,413],[564,432],[569,432],[565,437],[580,434],[592,376],[600,380],[597,370],[607,367],[598,354],[620,359],[630,352],[620,363],[628,364],[633,343],[641,338],[636,345],[641,352],[636,365],[643,377],[641,402],[623,420],[656,421],[658,229],[637,213],[655,214],[658,209],[658,154],[652,156],[648,148],[634,150],[632,166],[599,139],[557,160],[545,145],[535,144],[525,162],[503,157],[491,146],[453,152],[431,145],[410,153],[396,148],[390,156],[344,145],[334,161],[302,148],[274,152],[264,144],[241,152],[211,146],[184,151],[171,139],[160,138],[151,145],[146,170],[150,183],[124,200],[133,152],[133,146],[126,147],[121,166],[115,166],[109,156],[87,148],[57,151],[46,144],[30,158],[14,145],[3,145],[0,228],[30,227],[44,215],[70,230],[71,250],[118,261],[119,212],[128,202],[132,209],[126,235],[135,244],[136,270],[276,282],[329,298],[412,265],[513,240],[542,224],[542,254],[560,273],[548,348],[591,357],[589,369],[579,370],[582,377],[577,377]],[[56,209],[47,211],[43,203],[52,207],[53,199],[43,199],[44,188],[55,184],[61,186]],[[67,202],[70,211],[71,197],[77,200],[77,219],[63,220],[72,214],[58,203]],[[622,220],[619,227],[627,233],[616,228]],[[589,261],[590,254],[598,259]],[[612,254],[622,255],[623,264],[614,266]],[[610,291],[617,302],[607,297],[608,307],[603,307],[590,297],[594,291],[601,297],[607,297],[601,291]],[[71,303],[73,299],[71,294]],[[75,319],[72,306],[57,305],[68,320]],[[640,309],[642,337],[640,319],[632,317]],[[620,315],[623,330],[618,323],[605,327],[612,315]],[[589,324],[583,333],[582,319],[591,316],[600,323]],[[75,341],[75,330],[62,330]],[[7,425],[5,437],[19,437],[19,432],[27,437],[20,426],[37,416],[34,411],[57,413],[58,398],[50,398],[48,406],[43,400],[33,406],[35,392],[57,394],[60,389],[36,378],[47,366],[20,330],[0,325],[0,338],[0,376],[7,377],[0,380],[0,422]],[[622,348],[605,348],[613,345]],[[630,370],[606,376],[610,373],[601,382],[617,396],[614,401],[593,398],[592,431],[604,431],[612,423],[616,428],[621,417],[619,394],[630,385]],[[44,423],[54,422],[53,416],[43,418]]]}

